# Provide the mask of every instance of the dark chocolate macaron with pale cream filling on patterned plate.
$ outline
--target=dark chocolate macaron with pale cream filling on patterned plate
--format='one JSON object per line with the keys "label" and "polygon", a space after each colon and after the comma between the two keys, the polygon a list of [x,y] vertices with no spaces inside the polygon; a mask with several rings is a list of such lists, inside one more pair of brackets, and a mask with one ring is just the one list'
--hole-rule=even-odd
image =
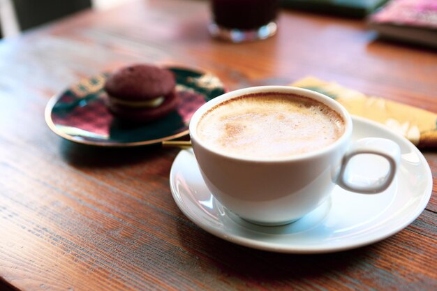
{"label": "dark chocolate macaron with pale cream filling on patterned plate", "polygon": [[128,66],[106,80],[106,105],[120,119],[154,121],[177,107],[175,86],[175,76],[170,70],[147,64]]}

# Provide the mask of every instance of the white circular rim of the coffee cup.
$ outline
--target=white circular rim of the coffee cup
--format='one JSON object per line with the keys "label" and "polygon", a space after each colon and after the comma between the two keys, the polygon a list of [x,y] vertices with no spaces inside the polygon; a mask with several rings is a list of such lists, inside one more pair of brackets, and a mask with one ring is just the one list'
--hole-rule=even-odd
{"label": "white circular rim of the coffee cup", "polygon": [[[329,106],[332,110],[335,110],[337,113],[341,115],[344,120],[345,128],[343,135],[339,137],[338,140],[333,142],[332,144],[327,145],[326,147],[322,147],[321,149],[316,149],[314,151],[309,151],[304,154],[296,154],[292,156],[279,157],[279,158],[253,158],[253,157],[245,157],[239,156],[237,154],[227,154],[223,153],[223,151],[219,151],[215,148],[207,146],[200,138],[197,133],[197,125],[205,112],[211,109],[212,107],[223,103],[226,100],[230,100],[232,98],[237,98],[239,96],[244,96],[247,94],[256,94],[256,93],[266,93],[266,92],[274,92],[274,93],[285,93],[285,94],[295,94],[297,96],[302,96],[306,98],[311,98],[317,101],[322,102],[323,104]],[[321,94],[316,91],[311,91],[309,89],[303,89],[299,87],[292,86],[258,86],[258,87],[248,87],[244,89],[237,89],[235,91],[229,91],[221,96],[217,96],[216,98],[209,100],[207,103],[202,105],[195,111],[193,117],[191,117],[190,124],[188,126],[189,134],[191,137],[191,142],[193,144],[198,144],[203,149],[210,151],[218,156],[222,156],[223,158],[231,158],[238,161],[247,161],[247,162],[258,162],[258,163],[267,163],[267,162],[288,162],[288,161],[301,161],[304,159],[315,158],[317,156],[321,156],[330,151],[333,151],[337,147],[339,147],[343,142],[346,142],[350,135],[352,134],[352,119],[350,114],[347,112],[346,108],[343,107],[340,103],[338,103],[333,98],[330,98],[324,94]]]}

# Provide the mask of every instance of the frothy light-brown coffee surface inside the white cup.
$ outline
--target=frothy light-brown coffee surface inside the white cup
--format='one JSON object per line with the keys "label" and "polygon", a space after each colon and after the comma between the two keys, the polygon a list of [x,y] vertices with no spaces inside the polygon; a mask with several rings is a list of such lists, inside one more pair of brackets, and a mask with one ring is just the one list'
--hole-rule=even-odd
{"label": "frothy light-brown coffee surface inside the white cup", "polygon": [[226,100],[200,118],[198,137],[223,154],[286,158],[327,147],[344,133],[338,112],[317,100],[283,93]]}

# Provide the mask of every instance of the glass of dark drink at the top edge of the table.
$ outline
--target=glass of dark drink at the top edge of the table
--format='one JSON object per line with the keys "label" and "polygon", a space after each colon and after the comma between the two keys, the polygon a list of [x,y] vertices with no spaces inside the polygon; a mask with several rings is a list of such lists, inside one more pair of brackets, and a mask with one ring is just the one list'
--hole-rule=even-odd
{"label": "glass of dark drink at the top edge of the table", "polygon": [[279,0],[211,0],[212,36],[235,43],[259,40],[276,33]]}

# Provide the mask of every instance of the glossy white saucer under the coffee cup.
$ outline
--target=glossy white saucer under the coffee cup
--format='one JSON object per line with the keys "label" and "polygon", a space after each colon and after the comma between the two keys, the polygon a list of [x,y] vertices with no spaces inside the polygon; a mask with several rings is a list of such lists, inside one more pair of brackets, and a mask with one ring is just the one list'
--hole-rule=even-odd
{"label": "glossy white saucer under the coffee cup", "polygon": [[[384,126],[360,117],[353,117],[353,126],[353,140],[385,137],[401,147],[397,177],[383,193],[356,194],[336,186],[325,204],[295,223],[275,227],[253,225],[212,197],[193,151],[188,149],[181,151],[172,165],[172,195],[193,223],[217,237],[251,248],[281,253],[329,253],[380,241],[399,232],[422,213],[431,197],[431,170],[413,144]],[[356,158],[352,163],[354,170],[364,170],[366,174],[385,167],[384,161],[373,156]]]}

